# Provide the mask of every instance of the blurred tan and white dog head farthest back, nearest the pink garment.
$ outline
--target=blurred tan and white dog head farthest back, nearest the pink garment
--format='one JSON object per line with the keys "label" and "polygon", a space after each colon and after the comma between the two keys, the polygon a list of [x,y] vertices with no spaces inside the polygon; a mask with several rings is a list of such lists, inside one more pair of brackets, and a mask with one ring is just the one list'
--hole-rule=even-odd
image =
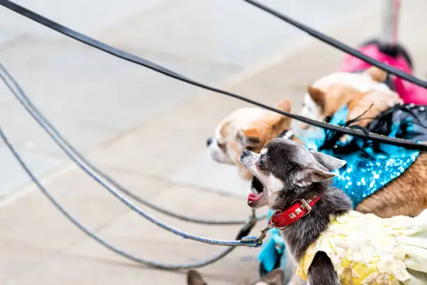
{"label": "blurred tan and white dog head farthest back, nearest the pink garment", "polygon": [[[349,114],[354,117],[362,115],[373,108],[370,115],[377,115],[393,105],[402,103],[396,92],[391,91],[384,80],[387,73],[375,66],[363,73],[333,73],[313,85],[309,85],[301,115],[324,121],[344,104],[348,104]],[[308,124],[293,122],[292,130],[297,136],[304,136],[304,131],[313,128]]]}

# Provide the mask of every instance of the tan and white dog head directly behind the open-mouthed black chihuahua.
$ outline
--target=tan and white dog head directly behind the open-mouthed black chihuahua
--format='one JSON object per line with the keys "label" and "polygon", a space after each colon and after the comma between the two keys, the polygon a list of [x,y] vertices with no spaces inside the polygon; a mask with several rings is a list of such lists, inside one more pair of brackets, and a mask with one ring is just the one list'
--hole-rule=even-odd
{"label": "tan and white dog head directly behind the open-mouthed black chihuahua", "polygon": [[[291,111],[291,103],[284,99],[275,106]],[[237,164],[239,174],[249,180],[252,175],[240,165],[239,156],[245,149],[258,152],[283,130],[290,129],[291,119],[276,112],[258,108],[241,108],[223,119],[215,136],[208,138],[207,147],[215,161]]]}

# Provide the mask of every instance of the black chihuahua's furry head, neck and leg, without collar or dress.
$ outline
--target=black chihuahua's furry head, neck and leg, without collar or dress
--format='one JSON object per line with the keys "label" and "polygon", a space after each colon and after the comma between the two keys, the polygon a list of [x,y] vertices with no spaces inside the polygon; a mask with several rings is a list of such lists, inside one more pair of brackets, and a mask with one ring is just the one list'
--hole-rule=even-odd
{"label": "black chihuahua's furry head, neck and leg, without collar or dress", "polygon": [[[261,193],[249,194],[250,207],[268,205],[272,210],[285,210],[296,200],[321,197],[304,219],[283,228],[283,238],[294,261],[299,261],[310,244],[327,230],[331,216],[352,210],[350,198],[328,181],[334,177],[331,172],[344,166],[345,161],[311,152],[285,138],[271,140],[260,154],[244,151],[240,161],[264,185]],[[308,284],[339,284],[331,260],[321,251],[308,270]]]}

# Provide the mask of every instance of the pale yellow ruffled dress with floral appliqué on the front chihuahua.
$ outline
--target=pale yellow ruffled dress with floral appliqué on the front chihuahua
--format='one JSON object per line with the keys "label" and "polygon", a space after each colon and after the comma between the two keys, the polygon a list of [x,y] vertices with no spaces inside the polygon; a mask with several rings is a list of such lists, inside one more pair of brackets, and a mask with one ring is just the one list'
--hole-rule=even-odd
{"label": "pale yellow ruffled dress with floral appliqu\u00e9 on the front chihuahua", "polygon": [[301,279],[317,251],[331,258],[341,284],[427,284],[427,210],[414,218],[354,211],[331,218],[299,261]]}

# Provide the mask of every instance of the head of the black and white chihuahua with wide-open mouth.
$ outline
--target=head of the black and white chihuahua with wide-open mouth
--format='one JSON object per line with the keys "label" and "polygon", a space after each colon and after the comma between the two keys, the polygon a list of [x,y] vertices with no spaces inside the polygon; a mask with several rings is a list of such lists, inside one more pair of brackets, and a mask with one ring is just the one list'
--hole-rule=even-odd
{"label": "head of the black and white chihuahua with wide-open mouth", "polygon": [[248,205],[271,209],[317,195],[316,184],[331,179],[335,176],[331,172],[345,165],[343,160],[286,138],[271,140],[260,154],[245,150],[240,161],[264,185],[262,193],[249,194]]}

